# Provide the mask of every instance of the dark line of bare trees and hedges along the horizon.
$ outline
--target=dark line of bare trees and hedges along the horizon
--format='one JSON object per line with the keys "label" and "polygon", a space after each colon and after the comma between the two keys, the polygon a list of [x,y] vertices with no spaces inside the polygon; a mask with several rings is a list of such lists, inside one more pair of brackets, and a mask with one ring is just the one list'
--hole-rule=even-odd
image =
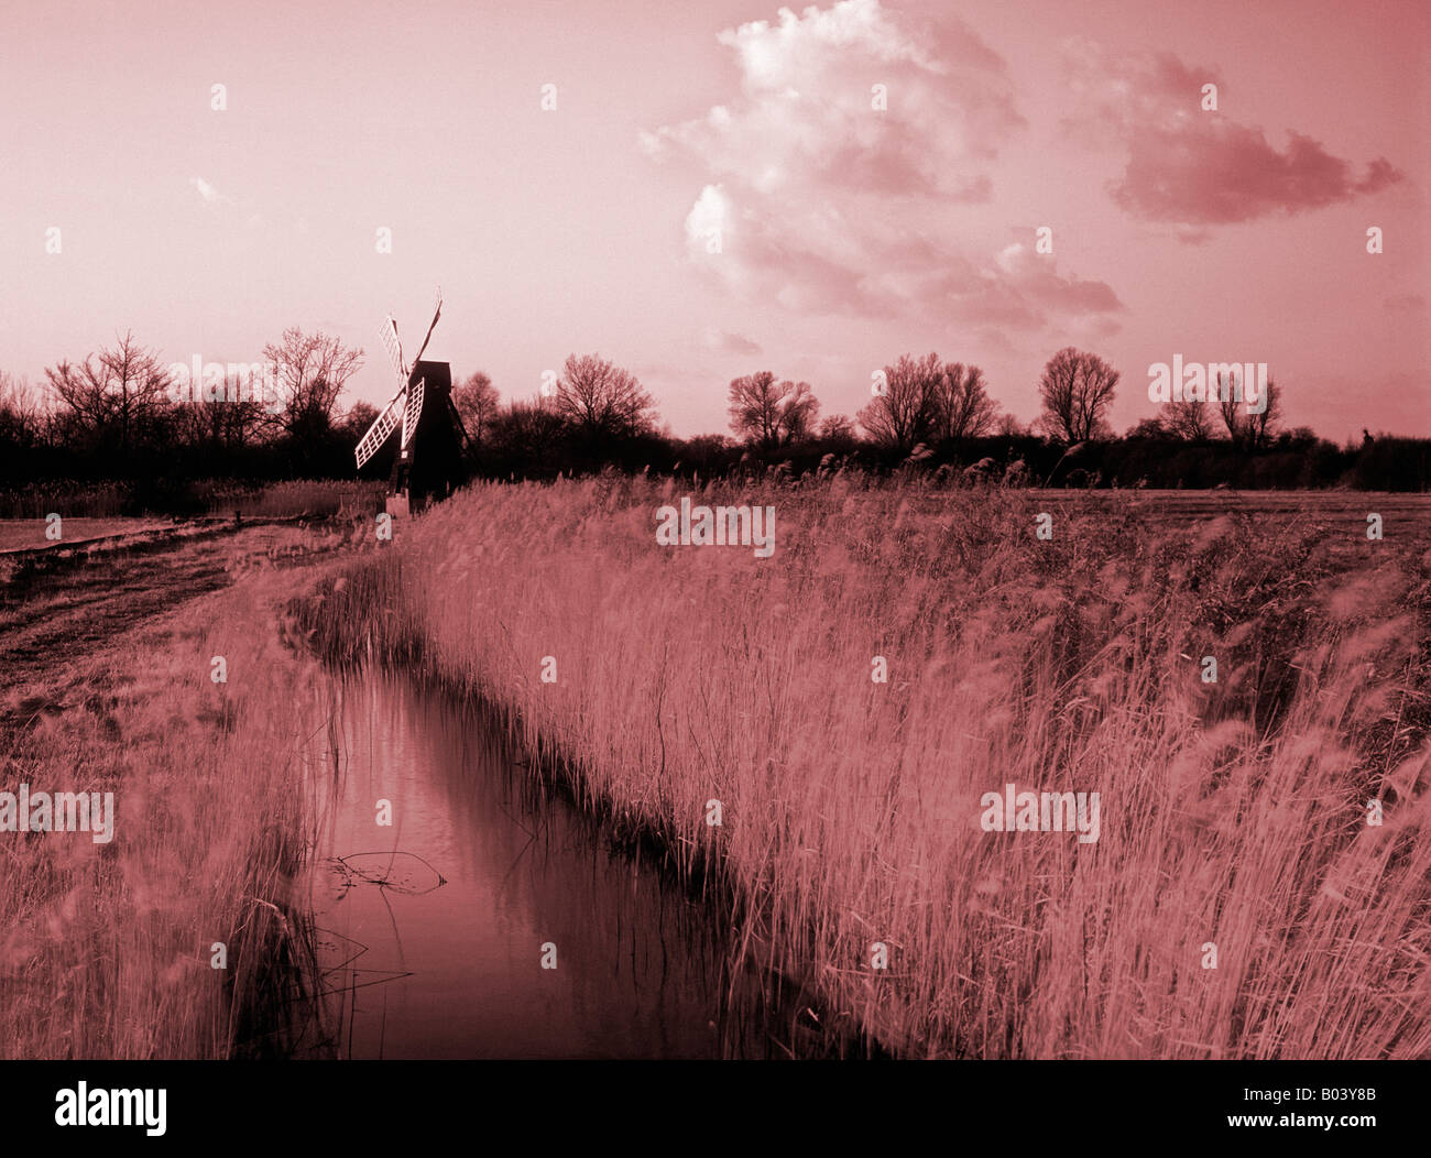
{"label": "dark line of bare trees and hedges along the horizon", "polygon": [[[345,478],[378,409],[342,395],[363,352],[336,338],[283,332],[263,349],[278,368],[270,398],[232,379],[195,382],[176,401],[173,366],[132,334],[83,361],[60,361],[44,382],[0,372],[0,482],[44,478]],[[1269,381],[1254,412],[1216,385],[1205,402],[1178,401],[1120,437],[1108,414],[1119,372],[1096,354],[1058,351],[1037,381],[1030,425],[1000,412],[976,365],[937,354],[902,355],[871,378],[854,417],[820,417],[809,382],[757,371],[727,386],[728,434],[677,438],[630,371],[598,354],[571,355],[529,398],[504,402],[488,375],[458,382],[452,399],[469,467],[489,478],[552,478],[605,468],[703,477],[780,468],[959,471],[1046,485],[1246,488],[1352,485],[1427,490],[1431,439],[1364,432],[1335,447],[1284,428],[1282,391]],[[396,439],[391,439],[395,444]],[[391,469],[395,445],[365,468]]]}

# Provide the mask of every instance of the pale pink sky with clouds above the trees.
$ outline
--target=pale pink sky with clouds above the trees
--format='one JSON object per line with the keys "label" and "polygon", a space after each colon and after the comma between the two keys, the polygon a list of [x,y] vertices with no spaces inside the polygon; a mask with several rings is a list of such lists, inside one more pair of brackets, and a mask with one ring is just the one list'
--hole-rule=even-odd
{"label": "pale pink sky with clouds above the trees", "polygon": [[598,352],[678,435],[728,432],[738,375],[854,414],[929,351],[1029,421],[1068,345],[1119,431],[1181,355],[1266,362],[1337,441],[1431,435],[1428,33],[1421,0],[0,0],[0,369],[298,325],[381,405],[382,318],[421,341],[441,285],[455,378],[532,398]]}

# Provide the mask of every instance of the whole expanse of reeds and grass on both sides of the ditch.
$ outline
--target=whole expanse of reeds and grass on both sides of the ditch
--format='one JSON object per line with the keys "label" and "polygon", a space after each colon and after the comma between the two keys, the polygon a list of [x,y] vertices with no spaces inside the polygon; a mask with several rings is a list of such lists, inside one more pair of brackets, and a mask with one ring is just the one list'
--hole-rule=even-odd
{"label": "whole expanse of reeds and grass on both sides of the ditch", "polygon": [[[771,505],[774,554],[658,547],[687,495]],[[9,846],[9,1055],[289,1048],[308,653],[369,648],[505,710],[534,773],[664,849],[744,965],[804,988],[811,1035],[1431,1054],[1424,498],[600,478],[479,485],[392,542],[371,524],[4,581],[7,776],[114,790],[127,836]],[[1098,840],[986,832],[1007,783],[1098,792]]]}

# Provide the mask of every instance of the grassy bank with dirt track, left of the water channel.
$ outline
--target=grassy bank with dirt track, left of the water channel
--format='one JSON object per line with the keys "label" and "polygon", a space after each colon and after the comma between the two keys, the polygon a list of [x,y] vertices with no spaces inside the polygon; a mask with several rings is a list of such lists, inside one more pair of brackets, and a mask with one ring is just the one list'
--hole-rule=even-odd
{"label": "grassy bank with dirt track, left of the water channel", "polygon": [[[123,581],[6,591],[0,787],[113,792],[116,819],[109,843],[0,835],[0,1056],[268,1055],[311,1032],[296,1003],[313,972],[302,760],[325,704],[275,608],[302,583],[286,564],[318,547],[259,530],[145,557]],[[145,584],[173,607],[197,577],[222,585],[143,616]],[[66,640],[99,621],[106,634],[50,650],[46,621]]]}

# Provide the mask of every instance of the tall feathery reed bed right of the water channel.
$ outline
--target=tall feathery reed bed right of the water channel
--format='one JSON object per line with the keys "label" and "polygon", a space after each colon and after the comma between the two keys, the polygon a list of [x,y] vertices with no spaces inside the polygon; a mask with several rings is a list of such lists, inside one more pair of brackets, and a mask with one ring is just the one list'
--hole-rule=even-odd
{"label": "tall feathery reed bed right of the water channel", "polygon": [[[751,952],[900,1054],[1431,1051],[1424,542],[1078,501],[1039,541],[1037,495],[840,480],[693,495],[774,505],[758,560],[658,547],[680,495],[464,492],[319,638],[479,691],[615,819],[713,853]],[[1099,792],[1099,840],[983,832],[1009,782]]]}

